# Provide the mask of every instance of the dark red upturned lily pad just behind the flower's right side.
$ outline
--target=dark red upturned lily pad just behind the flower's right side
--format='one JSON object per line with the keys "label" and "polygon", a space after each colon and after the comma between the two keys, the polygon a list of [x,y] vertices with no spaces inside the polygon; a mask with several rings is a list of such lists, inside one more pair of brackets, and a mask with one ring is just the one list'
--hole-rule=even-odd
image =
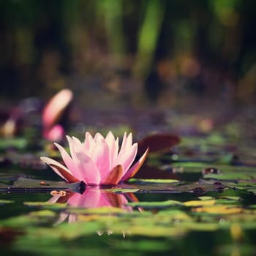
{"label": "dark red upturned lily pad just behind the flower's right side", "polygon": [[170,148],[180,143],[181,139],[177,135],[153,134],[148,135],[138,142],[138,154],[143,154],[147,148],[149,152],[168,152]]}

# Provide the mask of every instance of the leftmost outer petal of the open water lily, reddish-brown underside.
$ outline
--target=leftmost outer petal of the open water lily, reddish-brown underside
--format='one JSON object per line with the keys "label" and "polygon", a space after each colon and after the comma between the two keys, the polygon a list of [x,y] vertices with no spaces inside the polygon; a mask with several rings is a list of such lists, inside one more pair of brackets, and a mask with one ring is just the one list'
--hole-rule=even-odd
{"label": "leftmost outer petal of the open water lily, reddish-brown underside", "polygon": [[47,165],[49,165],[59,176],[64,178],[64,180],[68,182],[78,182],[78,178],[75,178],[75,176],[72,176],[72,173],[65,167],[64,165],[61,165],[59,162],[50,159],[48,157],[40,157],[42,162],[45,162]]}

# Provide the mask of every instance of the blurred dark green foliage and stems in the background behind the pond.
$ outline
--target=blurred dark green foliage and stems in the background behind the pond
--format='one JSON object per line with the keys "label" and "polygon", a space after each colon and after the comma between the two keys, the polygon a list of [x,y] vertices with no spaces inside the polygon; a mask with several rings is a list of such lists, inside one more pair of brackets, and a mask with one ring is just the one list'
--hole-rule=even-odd
{"label": "blurred dark green foliage and stems in the background behind the pond", "polygon": [[255,10],[253,0],[0,1],[1,96],[68,86],[164,105],[186,94],[252,102]]}

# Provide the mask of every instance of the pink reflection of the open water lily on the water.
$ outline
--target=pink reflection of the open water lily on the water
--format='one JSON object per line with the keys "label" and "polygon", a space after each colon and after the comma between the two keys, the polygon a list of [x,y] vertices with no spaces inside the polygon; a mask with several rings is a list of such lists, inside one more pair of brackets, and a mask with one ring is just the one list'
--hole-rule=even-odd
{"label": "pink reflection of the open water lily on the water", "polygon": [[[132,207],[127,205],[129,201],[135,202],[138,199],[132,193],[116,194],[99,189],[99,187],[87,187],[83,194],[68,191],[65,196],[61,196],[60,194],[53,195],[48,200],[48,203],[67,203],[67,206],[71,206],[72,208],[121,208],[124,211],[131,212]],[[80,214],[62,211],[55,225],[59,225],[65,220],[69,223],[77,222],[80,220],[79,216]],[[97,230],[97,233],[101,236],[104,231]],[[108,229],[106,233],[110,235],[113,233],[113,230]],[[123,232],[123,236],[125,236],[125,233],[129,233],[129,231]]]}

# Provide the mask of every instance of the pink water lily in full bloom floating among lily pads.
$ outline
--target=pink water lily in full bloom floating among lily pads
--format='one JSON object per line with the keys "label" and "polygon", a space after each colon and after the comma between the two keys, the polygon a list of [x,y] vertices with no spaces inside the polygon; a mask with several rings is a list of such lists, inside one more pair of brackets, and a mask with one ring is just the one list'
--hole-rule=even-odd
{"label": "pink water lily in full bloom floating among lily pads", "polygon": [[127,181],[135,176],[148,154],[147,149],[138,162],[132,165],[138,151],[138,143],[132,143],[132,133],[128,136],[124,133],[120,149],[118,138],[115,139],[112,132],[108,132],[105,138],[99,133],[93,138],[86,132],[84,142],[69,136],[67,140],[70,155],[62,146],[54,143],[66,166],[48,157],[41,157],[67,182],[84,181],[88,185],[107,185]]}

